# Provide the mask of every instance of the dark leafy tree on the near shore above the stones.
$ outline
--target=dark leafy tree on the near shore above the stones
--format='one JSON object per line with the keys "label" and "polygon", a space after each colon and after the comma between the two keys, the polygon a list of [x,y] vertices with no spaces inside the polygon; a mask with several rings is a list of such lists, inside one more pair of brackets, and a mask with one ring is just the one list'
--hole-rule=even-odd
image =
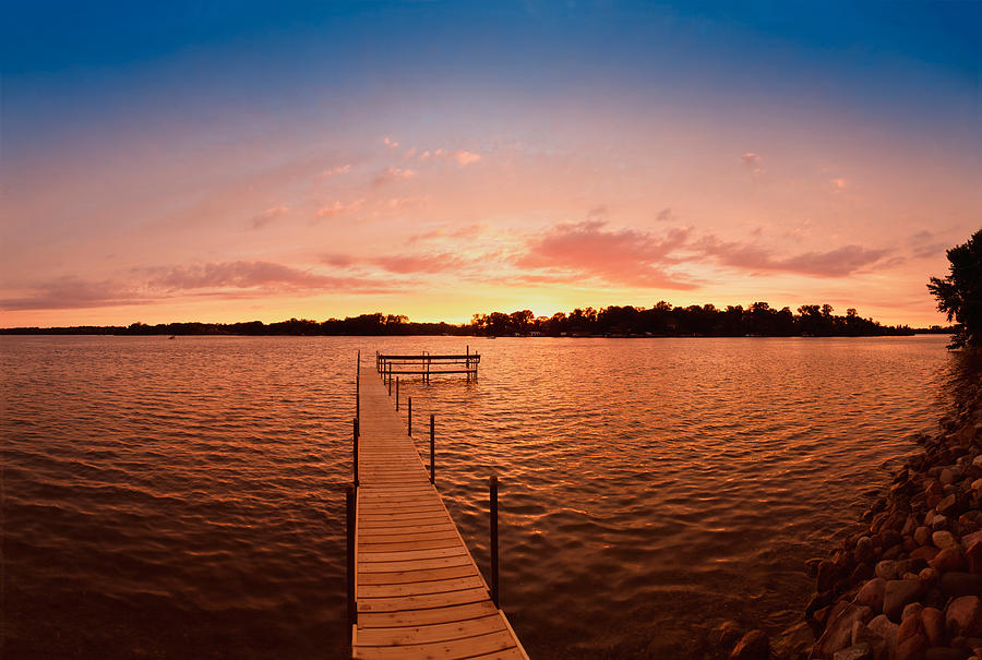
{"label": "dark leafy tree on the near shore above the stones", "polygon": [[958,322],[948,348],[982,346],[982,229],[948,250],[948,276],[932,277],[927,285],[937,309]]}

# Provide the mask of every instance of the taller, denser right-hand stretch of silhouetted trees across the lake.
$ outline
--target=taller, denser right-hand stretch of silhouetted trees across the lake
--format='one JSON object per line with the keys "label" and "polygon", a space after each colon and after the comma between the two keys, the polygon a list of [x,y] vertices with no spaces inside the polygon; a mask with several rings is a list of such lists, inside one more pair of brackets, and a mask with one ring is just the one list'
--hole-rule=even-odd
{"label": "taller, denser right-hand stretch of silhouetted trees across the lake", "polygon": [[[749,308],[728,305],[718,309],[712,304],[672,307],[661,301],[652,308],[611,305],[575,309],[571,313],[556,312],[552,316],[536,317],[529,310],[505,314],[475,314],[470,326],[478,335],[530,335],[546,336],[882,336],[912,335],[915,331],[881,325],[872,319],[863,319],[854,309],[845,316],[834,314],[829,304],[805,304],[798,313],[790,308],[780,310],[767,302],[755,302]],[[938,328],[938,332],[943,332]]]}

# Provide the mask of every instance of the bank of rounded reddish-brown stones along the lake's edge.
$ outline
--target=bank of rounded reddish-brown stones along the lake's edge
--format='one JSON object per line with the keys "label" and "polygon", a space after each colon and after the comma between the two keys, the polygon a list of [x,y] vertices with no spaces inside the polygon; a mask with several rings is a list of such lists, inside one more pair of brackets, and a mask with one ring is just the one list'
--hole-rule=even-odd
{"label": "bank of rounded reddish-brown stones along the lake's edge", "polygon": [[921,436],[889,492],[828,559],[802,620],[769,638],[726,622],[731,660],[982,660],[982,386]]}

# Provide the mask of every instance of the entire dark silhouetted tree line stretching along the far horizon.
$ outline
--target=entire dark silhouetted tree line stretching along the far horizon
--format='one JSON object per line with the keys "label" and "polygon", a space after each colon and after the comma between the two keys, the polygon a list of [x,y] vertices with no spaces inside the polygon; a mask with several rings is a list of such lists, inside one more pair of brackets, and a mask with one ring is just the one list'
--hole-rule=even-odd
{"label": "entire dark silhouetted tree line stretching along the far horizon", "polygon": [[16,327],[0,328],[0,334],[48,335],[484,335],[484,336],[615,336],[615,337],[743,337],[743,336],[883,336],[912,335],[915,332],[950,332],[932,326],[912,329],[906,325],[885,326],[863,319],[854,309],[846,315],[834,313],[828,304],[805,304],[795,314],[790,308],[780,310],[766,302],[744,309],[711,304],[672,307],[661,301],[652,308],[611,305],[595,310],[577,308],[566,314],[538,316],[529,310],[506,314],[475,314],[470,324],[416,323],[402,314],[361,314],[345,319],[312,321],[290,319],[278,323],[248,321],[240,323],[132,323],[128,326]]}

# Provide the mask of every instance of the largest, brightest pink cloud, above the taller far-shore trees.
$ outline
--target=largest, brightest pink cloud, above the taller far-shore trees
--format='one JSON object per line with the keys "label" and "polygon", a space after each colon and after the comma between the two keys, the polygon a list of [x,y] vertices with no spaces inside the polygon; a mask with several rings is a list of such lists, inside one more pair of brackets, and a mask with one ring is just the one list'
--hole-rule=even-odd
{"label": "largest, brightest pink cloud, above the taller far-shore trees", "polygon": [[572,278],[599,277],[613,284],[687,290],[698,284],[664,267],[681,261],[692,230],[675,228],[663,237],[635,229],[607,230],[599,220],[560,224],[534,238],[515,264],[566,273]]}

